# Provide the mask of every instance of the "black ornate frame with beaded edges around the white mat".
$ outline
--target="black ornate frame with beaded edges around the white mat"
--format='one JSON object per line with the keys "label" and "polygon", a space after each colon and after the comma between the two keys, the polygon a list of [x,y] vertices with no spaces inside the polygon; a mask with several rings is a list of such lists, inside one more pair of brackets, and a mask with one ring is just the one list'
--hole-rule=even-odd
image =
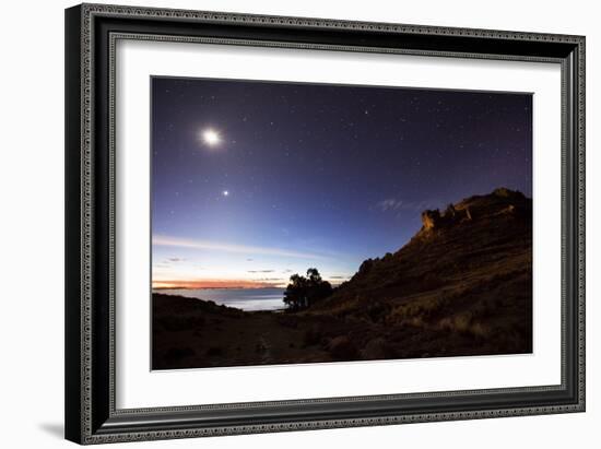
{"label": "black ornate frame with beaded edges around the white mat", "polygon": [[[146,410],[115,407],[114,45],[119,38],[556,62],[562,383]],[[83,4],[66,11],[66,437],[80,444],[585,410],[585,38]]]}

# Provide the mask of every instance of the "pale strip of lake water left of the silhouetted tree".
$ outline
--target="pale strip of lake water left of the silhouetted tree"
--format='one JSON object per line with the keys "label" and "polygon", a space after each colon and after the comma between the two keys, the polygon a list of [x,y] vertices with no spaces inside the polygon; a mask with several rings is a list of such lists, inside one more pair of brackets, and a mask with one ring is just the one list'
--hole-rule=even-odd
{"label": "pale strip of lake water left of the silhouetted tree", "polygon": [[285,307],[284,288],[161,288],[153,292],[212,300],[241,310],[279,310]]}

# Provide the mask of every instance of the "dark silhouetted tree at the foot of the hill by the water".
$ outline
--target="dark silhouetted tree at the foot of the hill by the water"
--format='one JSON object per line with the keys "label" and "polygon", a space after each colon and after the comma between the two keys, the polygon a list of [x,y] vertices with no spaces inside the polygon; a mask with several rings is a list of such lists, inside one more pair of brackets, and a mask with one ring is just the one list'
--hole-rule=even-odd
{"label": "dark silhouetted tree at the foot of the hill by the water", "polygon": [[284,303],[288,310],[306,309],[332,294],[332,285],[323,281],[316,268],[307,270],[307,277],[293,274],[284,292]]}

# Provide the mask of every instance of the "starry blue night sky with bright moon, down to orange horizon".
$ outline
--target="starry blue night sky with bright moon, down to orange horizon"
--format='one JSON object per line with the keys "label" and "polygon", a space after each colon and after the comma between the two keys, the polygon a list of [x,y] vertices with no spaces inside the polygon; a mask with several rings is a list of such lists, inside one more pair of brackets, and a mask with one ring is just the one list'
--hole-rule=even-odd
{"label": "starry blue night sky with bright moon, down to orange horizon", "polygon": [[152,81],[154,286],[339,283],[424,209],[532,194],[532,96]]}

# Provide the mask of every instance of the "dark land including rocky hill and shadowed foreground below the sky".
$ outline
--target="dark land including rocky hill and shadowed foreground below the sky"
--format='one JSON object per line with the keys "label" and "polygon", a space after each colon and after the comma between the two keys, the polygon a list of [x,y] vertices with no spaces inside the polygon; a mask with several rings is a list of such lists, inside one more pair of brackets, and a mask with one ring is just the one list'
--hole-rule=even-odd
{"label": "dark land including rocky hill and shadowed foreground below the sky", "polygon": [[532,201],[496,189],[424,211],[422,224],[401,249],[364,261],[304,311],[243,312],[153,295],[153,366],[531,352]]}

